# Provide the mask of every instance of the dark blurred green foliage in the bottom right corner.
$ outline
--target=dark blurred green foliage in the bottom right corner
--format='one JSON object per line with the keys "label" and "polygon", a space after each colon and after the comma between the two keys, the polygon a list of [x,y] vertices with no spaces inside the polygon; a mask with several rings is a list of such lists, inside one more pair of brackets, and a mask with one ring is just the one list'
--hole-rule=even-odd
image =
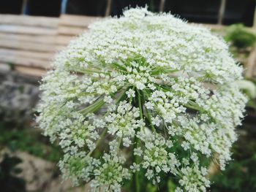
{"label": "dark blurred green foliage in the bottom right corner", "polygon": [[230,162],[225,172],[212,177],[212,192],[256,191],[256,129],[254,125],[242,129],[233,147],[234,161]]}

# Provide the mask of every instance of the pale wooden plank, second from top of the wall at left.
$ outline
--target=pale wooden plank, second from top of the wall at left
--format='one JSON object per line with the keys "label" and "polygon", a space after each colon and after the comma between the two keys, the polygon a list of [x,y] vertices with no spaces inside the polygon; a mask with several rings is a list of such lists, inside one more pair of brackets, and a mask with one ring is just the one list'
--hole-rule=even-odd
{"label": "pale wooden plank, second from top of the wall at left", "polygon": [[12,34],[56,35],[56,28],[42,28],[34,26],[16,26],[0,24],[0,32]]}

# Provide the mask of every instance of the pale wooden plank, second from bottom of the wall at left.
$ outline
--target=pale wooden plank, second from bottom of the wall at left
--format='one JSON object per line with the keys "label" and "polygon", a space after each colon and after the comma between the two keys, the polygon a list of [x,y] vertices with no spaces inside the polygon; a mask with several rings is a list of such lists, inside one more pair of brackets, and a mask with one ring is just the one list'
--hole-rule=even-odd
{"label": "pale wooden plank, second from bottom of the wall at left", "polygon": [[0,63],[10,63],[20,66],[31,66],[38,67],[41,69],[50,68],[50,62],[43,61],[37,58],[23,58],[23,57],[12,57],[9,55],[4,55],[0,57]]}

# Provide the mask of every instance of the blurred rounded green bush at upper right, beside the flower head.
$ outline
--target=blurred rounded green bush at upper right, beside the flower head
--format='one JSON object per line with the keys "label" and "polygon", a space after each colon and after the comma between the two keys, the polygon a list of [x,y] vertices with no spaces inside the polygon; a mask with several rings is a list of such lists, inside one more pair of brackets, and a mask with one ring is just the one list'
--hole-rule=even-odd
{"label": "blurred rounded green bush at upper right, beside the flower head", "polygon": [[225,39],[238,48],[246,48],[255,45],[256,35],[248,31],[242,24],[234,24],[227,28]]}

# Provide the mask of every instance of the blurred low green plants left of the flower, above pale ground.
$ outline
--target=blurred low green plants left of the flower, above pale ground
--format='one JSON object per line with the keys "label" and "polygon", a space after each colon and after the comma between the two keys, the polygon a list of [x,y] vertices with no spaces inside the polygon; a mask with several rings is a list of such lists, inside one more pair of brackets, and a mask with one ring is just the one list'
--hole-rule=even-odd
{"label": "blurred low green plants left of the flower, above pale ground", "polygon": [[37,128],[1,122],[0,132],[0,145],[7,146],[10,150],[23,150],[53,162],[59,161],[61,157],[59,147],[51,145]]}

